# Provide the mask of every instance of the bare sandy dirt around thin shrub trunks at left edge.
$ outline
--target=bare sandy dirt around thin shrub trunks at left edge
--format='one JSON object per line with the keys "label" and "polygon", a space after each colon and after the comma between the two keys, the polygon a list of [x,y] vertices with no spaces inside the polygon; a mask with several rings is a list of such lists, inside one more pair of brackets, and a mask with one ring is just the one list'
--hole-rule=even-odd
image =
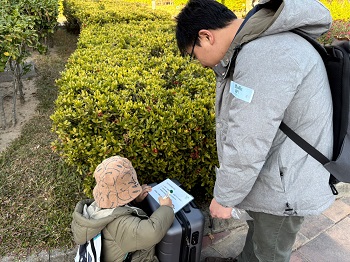
{"label": "bare sandy dirt around thin shrub trunks at left edge", "polygon": [[[12,82],[0,83],[1,93],[5,94],[4,97],[4,111],[7,127],[4,127],[3,123],[0,123],[0,153],[6,149],[6,147],[17,137],[20,136],[23,125],[35,114],[38,100],[36,98],[36,85],[35,79],[23,80],[23,92],[25,102],[21,104],[19,95],[17,95],[16,102],[16,116],[17,124],[12,124]],[[0,93],[0,94],[1,94]],[[1,97],[0,97],[1,99]],[[1,108],[0,108],[1,110]],[[1,113],[1,111],[0,111]],[[2,117],[0,117],[2,120]]]}

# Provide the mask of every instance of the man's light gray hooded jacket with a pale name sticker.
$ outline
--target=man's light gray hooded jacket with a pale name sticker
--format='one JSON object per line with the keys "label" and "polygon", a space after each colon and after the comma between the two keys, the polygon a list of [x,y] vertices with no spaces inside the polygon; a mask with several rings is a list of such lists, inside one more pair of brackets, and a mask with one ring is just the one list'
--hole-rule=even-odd
{"label": "man's light gray hooded jacket with a pale name sticker", "polygon": [[[329,173],[279,130],[283,120],[325,156],[332,154],[327,73],[317,51],[290,32],[318,37],[330,25],[318,0],[280,1],[250,17],[214,68],[218,203],[280,216],[316,215],[333,203]],[[231,58],[244,42],[232,74]]]}

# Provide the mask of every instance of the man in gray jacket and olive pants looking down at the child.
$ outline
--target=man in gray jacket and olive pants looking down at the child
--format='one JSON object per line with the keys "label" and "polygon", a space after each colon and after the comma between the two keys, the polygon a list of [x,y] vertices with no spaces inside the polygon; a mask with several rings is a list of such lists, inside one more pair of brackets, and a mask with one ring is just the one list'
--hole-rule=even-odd
{"label": "man in gray jacket and olive pants looking down at the child", "polygon": [[216,74],[220,165],[211,215],[230,218],[240,208],[253,218],[236,259],[206,261],[287,262],[304,216],[333,203],[329,173],[279,130],[283,120],[332,154],[325,67],[317,51],[290,32],[317,38],[331,21],[317,0],[260,1],[245,20],[216,1],[190,0],[177,16],[180,51]]}

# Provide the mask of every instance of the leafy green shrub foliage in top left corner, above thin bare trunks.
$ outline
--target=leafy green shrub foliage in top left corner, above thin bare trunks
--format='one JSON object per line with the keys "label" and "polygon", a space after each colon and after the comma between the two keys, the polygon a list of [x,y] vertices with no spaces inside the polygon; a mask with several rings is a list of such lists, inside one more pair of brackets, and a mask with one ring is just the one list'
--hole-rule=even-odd
{"label": "leafy green shrub foliage in top left corner, above thin bare trunks", "polygon": [[43,52],[57,24],[57,0],[0,0],[0,72],[9,61],[22,64],[31,50]]}

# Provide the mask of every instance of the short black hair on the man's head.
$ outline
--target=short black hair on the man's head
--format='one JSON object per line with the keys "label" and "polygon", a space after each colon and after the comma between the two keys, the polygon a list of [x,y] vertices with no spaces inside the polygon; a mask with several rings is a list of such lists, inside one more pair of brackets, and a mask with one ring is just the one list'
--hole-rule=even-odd
{"label": "short black hair on the man's head", "polygon": [[182,55],[192,46],[202,29],[221,29],[237,16],[215,0],[190,0],[176,17],[176,40]]}

